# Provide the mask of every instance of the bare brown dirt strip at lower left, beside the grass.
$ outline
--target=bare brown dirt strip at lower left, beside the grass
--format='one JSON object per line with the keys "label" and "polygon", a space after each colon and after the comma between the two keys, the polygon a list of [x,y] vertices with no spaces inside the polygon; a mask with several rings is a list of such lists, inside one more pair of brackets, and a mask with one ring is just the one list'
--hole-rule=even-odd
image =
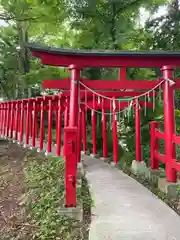
{"label": "bare brown dirt strip at lower left, beside the grass", "polygon": [[28,240],[32,228],[22,204],[26,150],[0,141],[0,239]]}

